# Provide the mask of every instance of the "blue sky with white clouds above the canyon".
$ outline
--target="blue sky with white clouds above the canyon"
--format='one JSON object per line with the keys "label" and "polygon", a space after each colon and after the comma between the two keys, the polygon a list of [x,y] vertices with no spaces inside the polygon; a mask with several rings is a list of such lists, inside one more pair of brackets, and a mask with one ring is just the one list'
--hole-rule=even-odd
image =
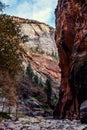
{"label": "blue sky with white clouds above the canyon", "polygon": [[58,0],[0,0],[8,4],[4,13],[34,19],[55,27],[54,11]]}

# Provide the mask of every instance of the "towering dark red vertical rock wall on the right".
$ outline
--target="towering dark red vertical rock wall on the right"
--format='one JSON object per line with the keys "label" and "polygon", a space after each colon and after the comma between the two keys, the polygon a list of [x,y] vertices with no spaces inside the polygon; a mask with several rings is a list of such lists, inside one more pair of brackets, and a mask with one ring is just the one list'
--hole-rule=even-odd
{"label": "towering dark red vertical rock wall on the right", "polygon": [[77,119],[87,100],[87,0],[59,0],[55,15],[62,80],[54,117]]}

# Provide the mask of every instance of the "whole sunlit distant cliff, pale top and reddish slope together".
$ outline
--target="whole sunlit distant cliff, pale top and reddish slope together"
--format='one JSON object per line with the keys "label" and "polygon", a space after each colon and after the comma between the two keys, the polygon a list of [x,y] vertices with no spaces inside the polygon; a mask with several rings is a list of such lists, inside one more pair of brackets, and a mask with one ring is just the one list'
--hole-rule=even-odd
{"label": "whole sunlit distant cliff, pale top and reddish slope together", "polygon": [[[31,65],[34,73],[46,83],[48,77],[52,80],[52,86],[59,93],[61,71],[58,66],[58,49],[55,43],[55,29],[45,23],[35,20],[12,17],[18,23],[21,36],[25,38],[23,53],[23,65],[26,71],[28,64]],[[56,95],[57,95],[56,94]]]}

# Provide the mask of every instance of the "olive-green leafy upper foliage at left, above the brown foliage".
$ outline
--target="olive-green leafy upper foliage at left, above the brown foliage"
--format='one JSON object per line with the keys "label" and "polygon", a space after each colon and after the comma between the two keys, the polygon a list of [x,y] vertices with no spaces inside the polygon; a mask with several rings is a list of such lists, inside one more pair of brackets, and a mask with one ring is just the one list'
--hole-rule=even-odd
{"label": "olive-green leafy upper foliage at left, above the brown foliage", "polygon": [[0,15],[0,68],[15,74],[21,69],[19,27],[7,15]]}

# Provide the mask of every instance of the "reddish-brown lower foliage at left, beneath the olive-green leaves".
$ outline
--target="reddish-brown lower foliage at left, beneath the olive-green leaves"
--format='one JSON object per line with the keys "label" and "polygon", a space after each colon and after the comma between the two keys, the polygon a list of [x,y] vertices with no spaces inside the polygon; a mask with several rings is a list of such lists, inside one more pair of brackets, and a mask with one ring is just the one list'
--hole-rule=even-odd
{"label": "reddish-brown lower foliage at left, beneath the olive-green leaves", "polygon": [[17,102],[17,84],[6,70],[0,70],[0,98],[3,104],[2,111],[9,107],[10,112],[11,106]]}

